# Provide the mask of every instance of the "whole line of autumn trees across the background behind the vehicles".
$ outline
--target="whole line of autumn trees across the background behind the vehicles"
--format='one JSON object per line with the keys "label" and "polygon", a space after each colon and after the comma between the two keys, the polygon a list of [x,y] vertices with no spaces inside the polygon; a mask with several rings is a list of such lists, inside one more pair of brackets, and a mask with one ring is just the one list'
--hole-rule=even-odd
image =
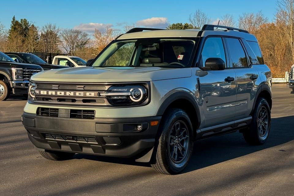
{"label": "whole line of autumn trees across the background behind the vehicles", "polygon": [[[273,77],[284,77],[294,63],[294,0],[279,0],[273,21],[269,22],[261,11],[243,13],[237,19],[224,14],[219,21],[198,9],[191,13],[188,23],[169,24],[166,29],[201,29],[205,24],[245,29],[256,36],[262,49],[265,63],[272,70]],[[127,32],[135,25],[126,25],[122,31],[107,27],[104,31],[95,29],[90,36],[76,29],[61,29],[48,23],[41,28],[14,16],[8,30],[0,22],[0,51],[51,52],[76,55],[85,60],[94,58],[115,37]]]}

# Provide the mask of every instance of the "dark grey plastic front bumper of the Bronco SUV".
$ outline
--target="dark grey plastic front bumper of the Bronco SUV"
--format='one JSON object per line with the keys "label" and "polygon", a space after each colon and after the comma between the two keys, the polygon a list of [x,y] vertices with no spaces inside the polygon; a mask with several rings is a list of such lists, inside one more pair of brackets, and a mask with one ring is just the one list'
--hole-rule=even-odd
{"label": "dark grey plastic front bumper of the Bronco SUV", "polygon": [[[161,116],[118,119],[70,119],[24,113],[22,123],[39,149],[91,155],[134,157],[147,154],[155,143]],[[136,126],[142,125],[137,131]]]}

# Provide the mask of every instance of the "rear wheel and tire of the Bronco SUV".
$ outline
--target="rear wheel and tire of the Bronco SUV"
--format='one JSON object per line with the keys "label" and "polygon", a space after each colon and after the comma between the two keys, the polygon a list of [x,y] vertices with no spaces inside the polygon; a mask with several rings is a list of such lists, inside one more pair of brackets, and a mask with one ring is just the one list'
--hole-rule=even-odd
{"label": "rear wheel and tire of the Bronco SUV", "polygon": [[270,109],[267,101],[260,97],[256,101],[251,125],[243,131],[243,137],[250,145],[262,145],[269,137]]}

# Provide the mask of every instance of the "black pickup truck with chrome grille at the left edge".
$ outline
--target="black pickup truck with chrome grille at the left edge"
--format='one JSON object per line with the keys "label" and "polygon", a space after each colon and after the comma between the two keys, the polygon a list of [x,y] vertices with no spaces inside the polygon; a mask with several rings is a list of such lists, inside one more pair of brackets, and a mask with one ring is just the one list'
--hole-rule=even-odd
{"label": "black pickup truck with chrome grille at the left edge", "polygon": [[34,64],[17,63],[0,52],[0,101],[6,100],[10,93],[28,96],[28,84],[32,75],[43,71]]}

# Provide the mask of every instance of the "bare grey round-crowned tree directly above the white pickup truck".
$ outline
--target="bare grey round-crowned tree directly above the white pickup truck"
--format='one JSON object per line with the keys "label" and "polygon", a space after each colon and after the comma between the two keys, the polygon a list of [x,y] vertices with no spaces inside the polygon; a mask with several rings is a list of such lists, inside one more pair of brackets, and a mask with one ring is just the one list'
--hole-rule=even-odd
{"label": "bare grey round-crowned tree directly above the white pickup truck", "polygon": [[61,46],[64,50],[74,56],[77,48],[84,47],[89,41],[88,33],[81,30],[65,29],[60,33]]}

